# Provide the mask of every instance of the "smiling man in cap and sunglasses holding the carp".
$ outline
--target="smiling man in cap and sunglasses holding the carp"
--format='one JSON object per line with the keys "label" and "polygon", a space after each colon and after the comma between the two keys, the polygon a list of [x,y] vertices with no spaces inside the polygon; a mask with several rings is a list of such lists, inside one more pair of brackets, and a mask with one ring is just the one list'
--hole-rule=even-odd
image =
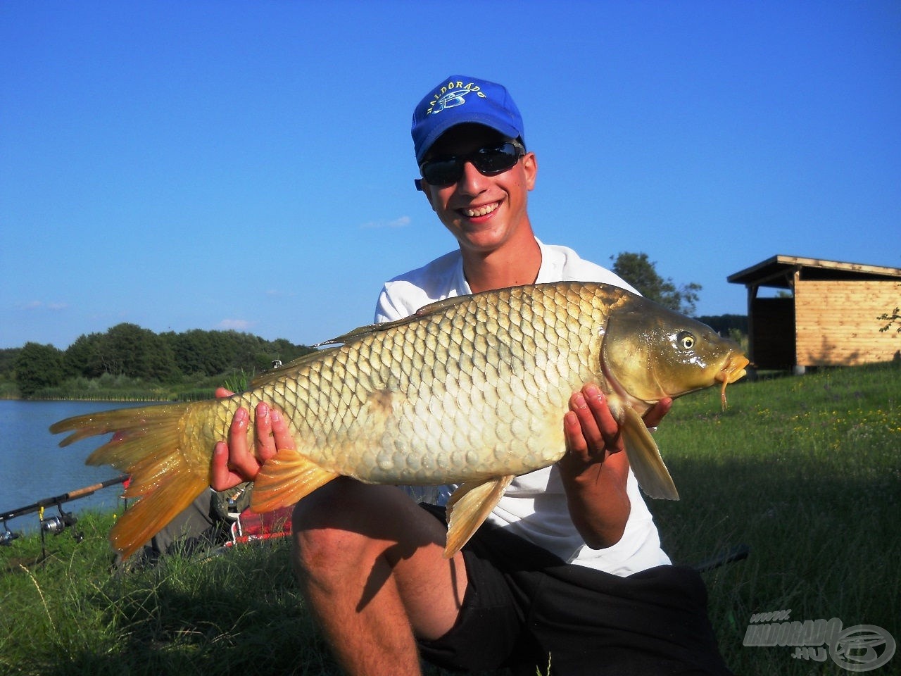
{"label": "smiling man in cap and sunglasses holding the carp", "polygon": [[[609,270],[539,242],[526,209],[538,164],[505,87],[452,77],[413,118],[417,186],[458,250],[387,282],[376,320],[444,297],[560,280],[630,288]],[[657,425],[665,399],[645,416]],[[727,674],[705,615],[703,582],[669,565],[629,470],[618,425],[591,383],[562,416],[566,454],[517,478],[451,560],[441,507],[341,478],[295,507],[294,562],[304,596],[353,674],[481,671],[550,660],[555,674]],[[252,478],[283,446],[277,410],[247,411],[217,444],[214,487]]]}

